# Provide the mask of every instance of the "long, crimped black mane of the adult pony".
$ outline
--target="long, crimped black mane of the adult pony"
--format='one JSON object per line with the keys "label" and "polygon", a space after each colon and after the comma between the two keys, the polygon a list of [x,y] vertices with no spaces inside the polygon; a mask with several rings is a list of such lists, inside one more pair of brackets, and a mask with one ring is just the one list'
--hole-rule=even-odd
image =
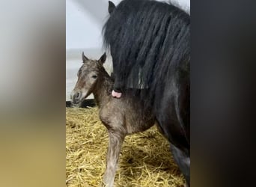
{"label": "long, crimped black mane of the adult pony", "polygon": [[103,27],[115,87],[147,88],[156,94],[156,88],[165,88],[180,75],[189,87],[189,25],[189,14],[171,3],[121,1]]}

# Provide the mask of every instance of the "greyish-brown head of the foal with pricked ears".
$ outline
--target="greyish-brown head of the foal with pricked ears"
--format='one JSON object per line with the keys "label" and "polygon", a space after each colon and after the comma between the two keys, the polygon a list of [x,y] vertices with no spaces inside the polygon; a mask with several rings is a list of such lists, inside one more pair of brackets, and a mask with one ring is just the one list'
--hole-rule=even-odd
{"label": "greyish-brown head of the foal with pricked ears", "polygon": [[77,104],[82,102],[94,90],[97,83],[100,70],[103,68],[103,63],[106,61],[106,53],[99,60],[91,60],[82,52],[82,67],[80,67],[77,76],[76,86],[71,92],[72,102]]}

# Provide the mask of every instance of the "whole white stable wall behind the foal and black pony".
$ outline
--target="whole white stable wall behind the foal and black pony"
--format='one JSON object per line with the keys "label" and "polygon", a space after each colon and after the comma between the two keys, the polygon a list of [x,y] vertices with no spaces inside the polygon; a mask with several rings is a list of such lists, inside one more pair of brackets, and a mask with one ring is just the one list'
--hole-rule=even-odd
{"label": "whole white stable wall behind the foal and black pony", "polygon": [[[76,72],[82,65],[82,51],[88,58],[103,54],[101,30],[108,16],[109,0],[66,0],[66,100],[76,83]],[[118,4],[121,0],[112,0]],[[168,1],[168,0],[166,0]],[[172,0],[190,12],[190,0]],[[112,71],[112,59],[106,69]],[[92,98],[92,96],[90,96]]]}

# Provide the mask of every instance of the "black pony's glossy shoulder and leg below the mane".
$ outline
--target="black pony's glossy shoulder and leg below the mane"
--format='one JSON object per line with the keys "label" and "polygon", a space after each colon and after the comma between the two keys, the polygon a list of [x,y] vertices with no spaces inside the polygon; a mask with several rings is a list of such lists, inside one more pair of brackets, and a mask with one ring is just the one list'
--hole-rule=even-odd
{"label": "black pony's glossy shoulder and leg below the mane", "polygon": [[154,113],[159,128],[171,143],[171,152],[189,185],[190,135],[189,135],[189,88],[184,82],[170,82],[159,87]]}

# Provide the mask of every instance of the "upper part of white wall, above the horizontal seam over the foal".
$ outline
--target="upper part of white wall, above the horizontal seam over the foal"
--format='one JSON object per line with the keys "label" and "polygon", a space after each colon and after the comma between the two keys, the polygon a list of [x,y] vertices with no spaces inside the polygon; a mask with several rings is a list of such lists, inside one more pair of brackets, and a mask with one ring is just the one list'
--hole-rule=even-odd
{"label": "upper part of white wall, above the horizontal seam over the foal", "polygon": [[[121,0],[112,0],[118,4]],[[166,0],[168,1],[168,0]],[[174,0],[187,10],[190,0]],[[66,48],[99,48],[102,46],[101,29],[108,16],[108,0],[66,1]]]}

